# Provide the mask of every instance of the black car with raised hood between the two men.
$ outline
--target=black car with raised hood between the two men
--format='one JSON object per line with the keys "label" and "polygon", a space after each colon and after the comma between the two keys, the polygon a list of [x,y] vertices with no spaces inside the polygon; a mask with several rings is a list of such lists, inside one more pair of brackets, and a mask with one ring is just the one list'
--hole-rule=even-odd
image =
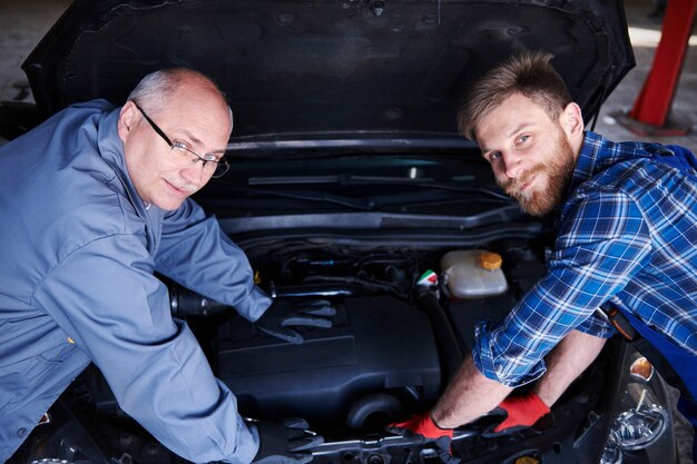
{"label": "black car with raised hood between the two men", "polygon": [[[257,419],[300,416],[318,464],[438,462],[385,432],[428,411],[472,346],[544,273],[553,218],[532,218],[455,128],[469,85],[540,49],[588,120],[634,66],[620,1],[76,1],[23,63],[36,106],[4,103],[16,135],[66,106],[122,103],[147,72],[187,66],[230,101],[230,171],[195,199],[275,298],[322,299],[333,326],[279,343],[171,284],[173,315]],[[500,268],[482,272],[482,251]],[[184,399],[183,399],[184,401]],[[495,412],[457,430],[462,463],[676,461],[666,387],[613,338],[552,413],[505,436]],[[183,437],[186,440],[186,437]],[[90,367],[12,463],[171,463]]]}

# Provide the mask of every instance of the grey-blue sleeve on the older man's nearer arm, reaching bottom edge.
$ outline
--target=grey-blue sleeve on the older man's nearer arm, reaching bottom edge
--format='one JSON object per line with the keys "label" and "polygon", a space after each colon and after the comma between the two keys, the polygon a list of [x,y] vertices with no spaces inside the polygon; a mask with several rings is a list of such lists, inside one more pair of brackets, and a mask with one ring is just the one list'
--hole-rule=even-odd
{"label": "grey-blue sleeve on the older man's nearer arm, reaching bottom edge", "polygon": [[188,327],[169,314],[141,240],[89,243],[51,270],[33,294],[105,375],[124,411],[193,462],[249,463],[258,437],[215,378]]}

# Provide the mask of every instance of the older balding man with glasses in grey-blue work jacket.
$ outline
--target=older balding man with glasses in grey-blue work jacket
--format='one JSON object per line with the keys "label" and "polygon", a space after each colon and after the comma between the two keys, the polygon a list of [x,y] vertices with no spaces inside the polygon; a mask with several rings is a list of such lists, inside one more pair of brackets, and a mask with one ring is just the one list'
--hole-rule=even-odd
{"label": "older balding man with glasses in grey-blue work jacket", "polygon": [[188,198],[227,170],[232,128],[215,83],[169,69],[121,108],[75,105],[0,149],[0,462],[90,362],[189,461],[312,458],[306,424],[243,421],[154,276],[249,320],[272,313],[243,251]]}

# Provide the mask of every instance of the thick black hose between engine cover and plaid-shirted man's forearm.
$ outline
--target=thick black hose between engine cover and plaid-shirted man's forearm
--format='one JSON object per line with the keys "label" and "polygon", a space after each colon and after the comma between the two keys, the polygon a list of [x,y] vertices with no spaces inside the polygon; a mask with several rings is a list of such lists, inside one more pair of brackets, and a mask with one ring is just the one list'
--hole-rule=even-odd
{"label": "thick black hose between engine cover and plaid-shirted man's forearm", "polygon": [[422,290],[418,295],[418,300],[419,306],[426,313],[433,326],[435,345],[443,369],[442,381],[445,385],[455,376],[455,373],[462,365],[464,348],[455,335],[452,324],[448,318],[448,314],[445,314],[445,310],[439,303],[435,293],[432,290]]}

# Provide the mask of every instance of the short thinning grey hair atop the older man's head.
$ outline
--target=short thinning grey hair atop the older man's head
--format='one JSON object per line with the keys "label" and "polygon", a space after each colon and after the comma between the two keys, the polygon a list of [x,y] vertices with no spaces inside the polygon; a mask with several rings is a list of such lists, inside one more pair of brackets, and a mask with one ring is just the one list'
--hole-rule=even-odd
{"label": "short thinning grey hair atop the older man's head", "polygon": [[177,90],[185,79],[190,78],[197,79],[203,85],[207,85],[220,96],[220,99],[225,101],[225,106],[227,107],[232,127],[233,109],[229,107],[225,93],[223,93],[220,88],[208,77],[188,68],[167,68],[150,72],[144,77],[128,95],[128,100],[135,101],[141,106],[147,106],[148,111],[159,112],[165,109],[165,105],[171,97],[171,93]]}

